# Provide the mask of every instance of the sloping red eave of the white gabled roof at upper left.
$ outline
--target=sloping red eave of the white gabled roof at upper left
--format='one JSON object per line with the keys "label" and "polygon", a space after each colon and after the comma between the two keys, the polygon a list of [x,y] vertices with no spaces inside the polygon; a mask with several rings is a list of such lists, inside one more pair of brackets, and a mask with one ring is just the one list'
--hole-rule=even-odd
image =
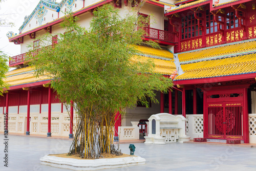
{"label": "sloping red eave of the white gabled roof at upper left", "polygon": [[[84,12],[88,12],[91,9],[94,9],[94,8],[96,8],[98,6],[101,6],[103,4],[106,4],[106,3],[110,3],[111,1],[113,1],[113,0],[102,0],[100,2],[92,4],[91,6],[84,7],[82,9],[80,9],[80,10],[75,11],[73,16],[77,16],[77,15],[80,15],[80,14],[82,14]],[[65,18],[65,16],[63,16],[61,18],[57,18],[57,19],[53,20],[52,22],[49,22],[49,23],[47,23],[45,25],[39,26],[37,28],[34,28],[33,30],[29,30],[27,32],[24,32],[24,33],[18,34],[16,36],[10,37],[9,38],[9,42],[13,42],[15,39],[18,39],[18,38],[23,37],[23,36],[27,36],[27,35],[29,35],[29,34],[31,34],[33,32],[45,29],[45,28],[47,28],[49,26],[53,26],[53,25],[59,24],[59,23],[61,23],[63,21],[64,18]]]}

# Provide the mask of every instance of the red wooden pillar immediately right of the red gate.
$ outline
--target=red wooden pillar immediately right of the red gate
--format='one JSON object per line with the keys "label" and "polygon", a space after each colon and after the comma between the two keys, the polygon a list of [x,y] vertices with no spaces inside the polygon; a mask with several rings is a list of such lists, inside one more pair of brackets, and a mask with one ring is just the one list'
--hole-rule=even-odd
{"label": "red wooden pillar immediately right of the red gate", "polygon": [[243,106],[243,135],[244,143],[249,143],[249,121],[248,121],[248,98],[247,88],[244,88],[244,106]]}

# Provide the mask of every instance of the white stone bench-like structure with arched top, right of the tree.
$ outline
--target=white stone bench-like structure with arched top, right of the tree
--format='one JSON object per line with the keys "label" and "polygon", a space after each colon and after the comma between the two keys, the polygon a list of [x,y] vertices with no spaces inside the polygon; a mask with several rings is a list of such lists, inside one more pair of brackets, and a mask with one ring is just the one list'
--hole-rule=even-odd
{"label": "white stone bench-like structure with arched top, right of the tree", "polygon": [[186,136],[186,118],[168,113],[152,115],[148,124],[148,136],[145,143],[165,144],[170,142],[189,141]]}

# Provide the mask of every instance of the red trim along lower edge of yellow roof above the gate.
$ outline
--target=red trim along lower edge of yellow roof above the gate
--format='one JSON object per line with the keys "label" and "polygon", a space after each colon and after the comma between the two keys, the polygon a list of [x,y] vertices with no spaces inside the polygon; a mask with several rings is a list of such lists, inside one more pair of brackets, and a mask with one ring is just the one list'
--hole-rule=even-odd
{"label": "red trim along lower edge of yellow roof above the gate", "polygon": [[242,79],[249,79],[249,78],[256,78],[256,73],[230,75],[230,76],[223,76],[223,77],[212,77],[212,78],[177,80],[177,81],[174,81],[174,84],[175,85],[177,85],[177,84],[180,84],[180,85],[199,84],[199,83],[211,83],[211,82],[242,80]]}

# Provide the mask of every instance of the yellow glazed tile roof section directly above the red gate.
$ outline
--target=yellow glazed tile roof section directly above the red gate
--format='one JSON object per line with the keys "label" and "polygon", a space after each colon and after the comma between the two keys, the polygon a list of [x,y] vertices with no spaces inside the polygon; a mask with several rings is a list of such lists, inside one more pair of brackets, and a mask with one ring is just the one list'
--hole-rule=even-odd
{"label": "yellow glazed tile roof section directly above the red gate", "polygon": [[182,53],[181,56],[179,54],[179,59],[183,62],[181,68],[185,73],[177,76],[175,80],[256,73],[255,44],[253,40]]}

